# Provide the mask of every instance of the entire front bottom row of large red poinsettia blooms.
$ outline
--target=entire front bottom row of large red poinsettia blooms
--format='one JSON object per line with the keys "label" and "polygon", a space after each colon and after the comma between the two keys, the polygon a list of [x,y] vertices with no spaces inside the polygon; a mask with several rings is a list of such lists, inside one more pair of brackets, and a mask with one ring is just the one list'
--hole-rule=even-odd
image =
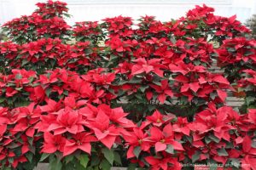
{"label": "entire front bottom row of large red poinsettia blooms", "polygon": [[[186,156],[193,162],[212,159],[225,165],[236,159],[253,166],[256,149],[251,146],[253,133],[250,133],[256,130],[255,114],[251,109],[248,114],[239,115],[230,107],[217,109],[210,103],[207,110],[195,116],[194,122],[181,117],[175,121],[175,116],[155,111],[137,127],[125,118],[127,114],[122,108],[96,107],[74,97],[59,102],[47,99],[47,105],[31,103],[13,110],[1,108],[0,159],[15,157],[18,161],[28,161],[24,154],[32,152],[39,138],[44,138],[43,153],[60,151],[63,156],[75,150],[90,154],[90,144],[99,142],[110,149],[118,138],[124,138],[129,146],[127,158],[143,156],[153,169],[181,169],[180,162]],[[35,132],[43,132],[44,137],[35,136]],[[17,147],[21,147],[20,156],[15,155]],[[17,163],[14,161],[12,166]]]}

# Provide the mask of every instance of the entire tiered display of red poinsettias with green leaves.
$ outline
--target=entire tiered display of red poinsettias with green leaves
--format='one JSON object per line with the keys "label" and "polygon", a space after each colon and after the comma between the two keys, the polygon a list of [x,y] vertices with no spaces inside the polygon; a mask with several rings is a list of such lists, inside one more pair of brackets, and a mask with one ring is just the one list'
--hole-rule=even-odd
{"label": "entire tiered display of red poinsettias with green leaves", "polygon": [[68,26],[67,3],[37,6],[2,26],[1,169],[256,169],[255,40],[236,15]]}

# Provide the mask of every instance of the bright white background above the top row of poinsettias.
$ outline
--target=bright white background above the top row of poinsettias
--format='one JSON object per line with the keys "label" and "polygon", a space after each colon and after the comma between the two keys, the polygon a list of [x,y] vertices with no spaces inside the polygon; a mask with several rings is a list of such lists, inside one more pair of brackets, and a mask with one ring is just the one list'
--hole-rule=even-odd
{"label": "bright white background above the top row of poinsettias", "polygon": [[[68,5],[75,21],[101,20],[119,14],[135,19],[141,15],[154,15],[158,20],[170,20],[183,16],[195,4],[206,3],[216,9],[216,14],[237,15],[244,22],[256,14],[256,0],[62,0]],[[46,0],[0,0],[0,24],[24,14],[32,14],[35,3]],[[114,3],[113,3],[114,2]],[[181,2],[181,3],[180,3]],[[126,3],[126,4],[125,4]]]}

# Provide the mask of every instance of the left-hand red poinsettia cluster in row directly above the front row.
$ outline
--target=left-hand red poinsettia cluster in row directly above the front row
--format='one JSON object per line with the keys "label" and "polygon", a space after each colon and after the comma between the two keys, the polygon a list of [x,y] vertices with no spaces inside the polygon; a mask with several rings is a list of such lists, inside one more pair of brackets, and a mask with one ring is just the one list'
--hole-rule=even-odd
{"label": "left-hand red poinsettia cluster in row directly above the front row", "polygon": [[[1,105],[16,106],[24,102],[36,104],[49,99],[63,99],[72,96],[86,99],[95,104],[110,103],[115,95],[108,92],[108,84],[113,81],[111,75],[93,73],[79,76],[76,72],[56,69],[37,76],[35,71],[13,70],[13,74],[0,76]],[[114,75],[113,75],[114,76]],[[111,79],[109,79],[111,78]],[[110,81],[110,82],[108,82]],[[97,86],[94,86],[94,83]],[[102,87],[102,88],[100,88]]]}

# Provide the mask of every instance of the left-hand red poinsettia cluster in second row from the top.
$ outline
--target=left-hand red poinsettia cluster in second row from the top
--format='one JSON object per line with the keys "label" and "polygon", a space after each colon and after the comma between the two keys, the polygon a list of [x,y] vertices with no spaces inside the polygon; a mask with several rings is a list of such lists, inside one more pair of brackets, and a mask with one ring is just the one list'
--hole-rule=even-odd
{"label": "left-hand red poinsettia cluster in second row from the top", "polygon": [[[5,57],[4,65],[13,68],[54,69],[56,67],[79,70],[81,66],[94,67],[97,54],[90,42],[78,42],[74,45],[61,43],[58,38],[42,38],[20,46],[13,42],[0,44],[0,53]],[[94,58],[94,60],[91,60]],[[42,65],[44,69],[42,69]],[[80,66],[79,66],[80,65]],[[86,69],[86,66],[84,67]]]}

